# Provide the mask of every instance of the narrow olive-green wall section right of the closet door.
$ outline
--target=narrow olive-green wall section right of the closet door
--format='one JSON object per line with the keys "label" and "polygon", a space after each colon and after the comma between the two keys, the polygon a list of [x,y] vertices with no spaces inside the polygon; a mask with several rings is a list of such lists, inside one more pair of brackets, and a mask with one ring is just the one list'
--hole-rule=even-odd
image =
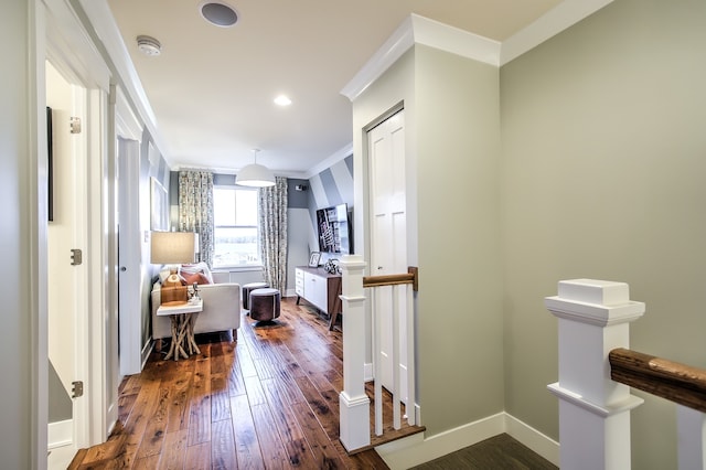
{"label": "narrow olive-green wall section right of the closet door", "polygon": [[499,71],[417,45],[415,74],[418,366],[429,436],[503,410]]}

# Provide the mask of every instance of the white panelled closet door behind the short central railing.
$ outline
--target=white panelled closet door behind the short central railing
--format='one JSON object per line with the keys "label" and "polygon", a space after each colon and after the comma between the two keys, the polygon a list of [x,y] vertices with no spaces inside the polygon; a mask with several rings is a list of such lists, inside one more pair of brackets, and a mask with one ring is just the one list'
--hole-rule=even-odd
{"label": "white panelled closet door behind the short central railing", "polygon": [[[404,110],[393,115],[368,131],[370,168],[370,227],[371,275],[392,275],[407,271],[407,203],[405,175],[405,116]],[[404,312],[405,293],[397,289],[397,302]],[[381,329],[381,364],[378,373],[385,388],[392,389],[393,367],[393,300],[392,287],[378,288],[373,296],[372,308]],[[400,331],[406,331],[404,314]],[[405,335],[400,338],[399,374],[400,394],[407,396],[407,350]],[[375,355],[377,356],[377,354]],[[403,398],[405,399],[405,398]]]}

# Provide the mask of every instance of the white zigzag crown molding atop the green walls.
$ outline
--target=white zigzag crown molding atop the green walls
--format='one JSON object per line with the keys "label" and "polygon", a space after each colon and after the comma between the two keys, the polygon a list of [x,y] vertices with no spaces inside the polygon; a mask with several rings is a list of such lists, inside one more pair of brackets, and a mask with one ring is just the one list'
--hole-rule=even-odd
{"label": "white zigzag crown molding atop the green walls", "polygon": [[564,0],[504,42],[410,14],[341,90],[351,102],[415,44],[447,51],[500,67],[576,24],[613,0]]}

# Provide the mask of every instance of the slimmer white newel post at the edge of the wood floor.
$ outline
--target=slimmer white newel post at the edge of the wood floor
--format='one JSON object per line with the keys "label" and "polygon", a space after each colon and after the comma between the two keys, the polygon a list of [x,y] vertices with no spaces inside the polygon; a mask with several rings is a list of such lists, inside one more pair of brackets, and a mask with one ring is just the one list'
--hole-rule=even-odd
{"label": "slimmer white newel post at the edge of the wood floor", "polygon": [[341,300],[343,307],[343,391],[340,439],[346,450],[370,446],[370,404],[365,394],[365,295],[362,256],[343,256]]}

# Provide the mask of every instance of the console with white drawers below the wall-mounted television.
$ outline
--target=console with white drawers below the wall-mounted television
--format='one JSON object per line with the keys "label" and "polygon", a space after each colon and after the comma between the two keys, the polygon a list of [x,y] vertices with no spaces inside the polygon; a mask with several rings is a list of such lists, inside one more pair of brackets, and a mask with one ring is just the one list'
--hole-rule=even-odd
{"label": "console with white drawers below the wall-mounted television", "polygon": [[323,268],[297,266],[297,305],[304,299],[329,316],[329,330],[333,330],[341,313],[341,275],[332,275]]}

